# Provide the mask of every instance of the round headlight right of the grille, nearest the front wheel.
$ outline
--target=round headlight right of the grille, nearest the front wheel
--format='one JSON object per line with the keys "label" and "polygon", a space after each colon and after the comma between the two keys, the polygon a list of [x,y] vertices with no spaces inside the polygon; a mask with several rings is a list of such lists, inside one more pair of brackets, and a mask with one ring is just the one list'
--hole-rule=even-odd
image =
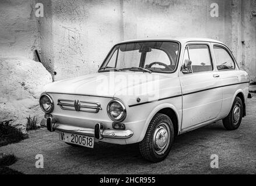
{"label": "round headlight right of the grille, nearest the front wheel", "polygon": [[107,113],[111,120],[121,122],[126,117],[126,109],[124,104],[118,100],[112,100],[107,105]]}

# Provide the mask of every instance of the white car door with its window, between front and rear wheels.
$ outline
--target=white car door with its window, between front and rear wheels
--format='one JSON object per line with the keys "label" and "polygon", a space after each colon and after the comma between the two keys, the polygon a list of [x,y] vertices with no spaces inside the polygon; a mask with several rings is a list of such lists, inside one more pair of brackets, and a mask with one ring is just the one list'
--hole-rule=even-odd
{"label": "white car door with its window, between front and rear wheels", "polygon": [[182,130],[216,119],[220,113],[222,88],[211,53],[208,42],[188,43],[185,47],[183,62],[190,60],[192,64],[190,73],[180,71]]}

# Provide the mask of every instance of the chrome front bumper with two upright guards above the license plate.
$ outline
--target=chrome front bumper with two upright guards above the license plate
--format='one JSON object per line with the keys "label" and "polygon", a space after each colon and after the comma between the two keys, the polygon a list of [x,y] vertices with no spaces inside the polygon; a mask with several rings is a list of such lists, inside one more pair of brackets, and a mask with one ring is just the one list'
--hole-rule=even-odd
{"label": "chrome front bumper with two upright guards above the license plate", "polygon": [[67,124],[54,122],[52,117],[47,118],[47,129],[51,132],[57,130],[57,131],[62,131],[66,133],[87,135],[90,137],[95,137],[99,140],[103,138],[127,139],[132,137],[132,135],[134,135],[134,133],[131,130],[104,129],[100,123],[97,123],[94,129],[69,126]]}

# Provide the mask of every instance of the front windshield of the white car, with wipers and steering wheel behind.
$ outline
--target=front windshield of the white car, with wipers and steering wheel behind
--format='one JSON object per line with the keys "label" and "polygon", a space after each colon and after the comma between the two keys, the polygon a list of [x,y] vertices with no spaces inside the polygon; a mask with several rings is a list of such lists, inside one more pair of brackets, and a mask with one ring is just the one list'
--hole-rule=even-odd
{"label": "front windshield of the white car, with wipers and steering wheel behind", "polygon": [[101,71],[145,71],[172,73],[176,69],[179,44],[174,41],[128,42],[115,45]]}

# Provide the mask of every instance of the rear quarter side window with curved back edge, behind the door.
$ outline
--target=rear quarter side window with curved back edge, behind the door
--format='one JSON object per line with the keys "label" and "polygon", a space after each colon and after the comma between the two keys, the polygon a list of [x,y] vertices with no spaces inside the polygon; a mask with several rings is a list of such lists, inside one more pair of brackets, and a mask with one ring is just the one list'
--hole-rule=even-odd
{"label": "rear quarter side window with curved back edge, behind the door", "polygon": [[234,61],[226,51],[226,49],[218,46],[213,46],[213,52],[218,70],[234,69]]}

